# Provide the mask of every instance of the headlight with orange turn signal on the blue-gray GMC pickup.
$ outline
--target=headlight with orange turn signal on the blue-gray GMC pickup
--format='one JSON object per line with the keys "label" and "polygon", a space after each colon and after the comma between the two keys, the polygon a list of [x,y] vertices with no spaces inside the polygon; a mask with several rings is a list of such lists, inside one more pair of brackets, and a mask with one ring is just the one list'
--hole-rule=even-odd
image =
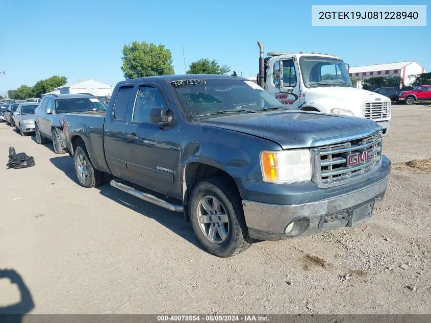
{"label": "headlight with orange turn signal on the blue-gray GMC pickup", "polygon": [[264,151],[261,153],[265,182],[294,183],[311,180],[310,150]]}

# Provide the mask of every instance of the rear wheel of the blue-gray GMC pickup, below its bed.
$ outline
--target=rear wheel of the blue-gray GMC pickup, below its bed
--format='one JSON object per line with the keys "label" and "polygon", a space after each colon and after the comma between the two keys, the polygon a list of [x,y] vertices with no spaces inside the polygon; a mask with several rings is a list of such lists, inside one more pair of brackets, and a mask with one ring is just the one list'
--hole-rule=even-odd
{"label": "rear wheel of the blue-gray GMC pickup, below its bed", "polygon": [[96,187],[102,185],[104,172],[93,167],[84,145],[79,145],[75,149],[73,162],[75,173],[81,186]]}

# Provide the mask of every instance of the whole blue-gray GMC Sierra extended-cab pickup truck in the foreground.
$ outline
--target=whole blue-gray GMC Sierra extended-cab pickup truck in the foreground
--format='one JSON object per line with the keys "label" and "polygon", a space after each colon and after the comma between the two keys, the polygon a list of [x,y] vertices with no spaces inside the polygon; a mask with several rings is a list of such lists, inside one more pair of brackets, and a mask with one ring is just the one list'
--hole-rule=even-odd
{"label": "whole blue-gray GMC Sierra extended-cab pickup truck in the foreground", "polygon": [[371,217],[390,161],[372,120],[287,110],[246,79],[213,75],[119,82],[107,111],[64,115],[84,187],[111,185],[184,212],[219,257]]}

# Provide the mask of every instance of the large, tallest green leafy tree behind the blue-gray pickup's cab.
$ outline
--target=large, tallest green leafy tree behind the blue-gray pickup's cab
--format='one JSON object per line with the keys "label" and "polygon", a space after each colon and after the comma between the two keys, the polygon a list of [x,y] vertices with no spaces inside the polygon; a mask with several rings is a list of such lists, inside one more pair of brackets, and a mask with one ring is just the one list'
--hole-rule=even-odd
{"label": "large, tallest green leafy tree behind the blue-gray pickup's cab", "polygon": [[173,74],[172,54],[164,45],[132,41],[124,45],[121,57],[125,79]]}

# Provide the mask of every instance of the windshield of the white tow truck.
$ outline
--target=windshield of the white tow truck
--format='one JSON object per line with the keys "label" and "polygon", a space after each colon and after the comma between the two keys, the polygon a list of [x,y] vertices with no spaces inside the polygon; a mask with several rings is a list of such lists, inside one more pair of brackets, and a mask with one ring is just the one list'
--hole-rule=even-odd
{"label": "windshield of the white tow truck", "polygon": [[352,86],[344,62],[326,57],[308,57],[300,59],[302,78],[308,88],[319,86]]}

